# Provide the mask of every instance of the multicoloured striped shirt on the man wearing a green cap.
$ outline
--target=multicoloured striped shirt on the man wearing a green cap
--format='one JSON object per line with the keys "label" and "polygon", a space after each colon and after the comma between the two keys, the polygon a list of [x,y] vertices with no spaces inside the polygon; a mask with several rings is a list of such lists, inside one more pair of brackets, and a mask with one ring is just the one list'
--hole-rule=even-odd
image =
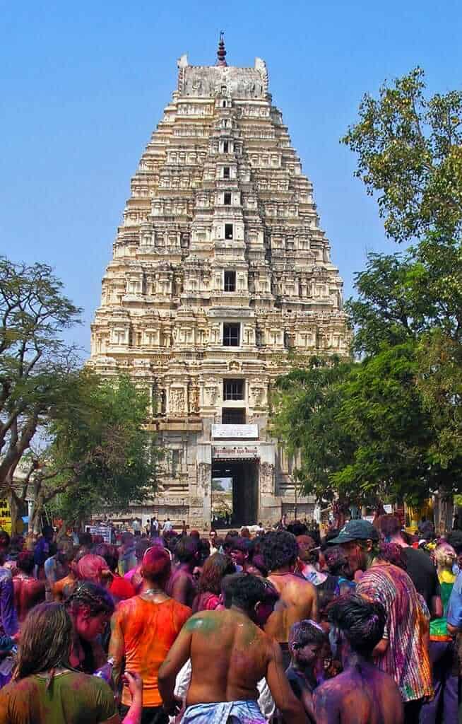
{"label": "multicoloured striped shirt on the man wearing a green cap", "polygon": [[387,612],[385,654],[375,659],[378,668],[393,676],[404,702],[432,696],[432,673],[424,636],[429,613],[424,599],[406,571],[377,563],[364,573],[356,593],[382,603]]}

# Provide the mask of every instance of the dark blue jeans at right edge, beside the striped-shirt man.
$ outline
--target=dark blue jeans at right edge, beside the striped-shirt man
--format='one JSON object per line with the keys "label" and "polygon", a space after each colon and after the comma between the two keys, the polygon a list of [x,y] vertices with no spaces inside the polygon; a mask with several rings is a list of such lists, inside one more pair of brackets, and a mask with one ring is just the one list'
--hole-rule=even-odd
{"label": "dark blue jeans at right edge, beside the striped-shirt man", "polygon": [[424,704],[419,724],[454,724],[458,720],[458,675],[453,641],[430,641],[435,699]]}

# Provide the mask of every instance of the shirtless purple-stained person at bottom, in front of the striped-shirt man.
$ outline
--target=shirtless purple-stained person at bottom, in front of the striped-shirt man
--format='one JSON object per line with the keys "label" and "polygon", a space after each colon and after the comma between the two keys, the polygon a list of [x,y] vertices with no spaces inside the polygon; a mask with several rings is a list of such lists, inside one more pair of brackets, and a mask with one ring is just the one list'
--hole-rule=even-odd
{"label": "shirtless purple-stained person at bottom, in front of the striped-shirt man", "polygon": [[393,678],[372,663],[386,621],[381,603],[346,594],[330,605],[330,643],[343,673],[314,694],[317,724],[403,724],[403,702]]}

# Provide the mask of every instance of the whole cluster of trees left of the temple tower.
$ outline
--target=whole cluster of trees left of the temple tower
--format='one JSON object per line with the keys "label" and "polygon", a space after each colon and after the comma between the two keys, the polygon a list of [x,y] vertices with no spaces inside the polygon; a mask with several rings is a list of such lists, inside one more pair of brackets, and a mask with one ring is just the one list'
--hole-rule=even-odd
{"label": "whole cluster of trees left of the temple tower", "polygon": [[140,500],[156,462],[147,395],[82,369],[61,339],[80,309],[49,266],[0,258],[0,320],[0,494],[13,525],[30,489],[35,522],[58,497],[69,510]]}

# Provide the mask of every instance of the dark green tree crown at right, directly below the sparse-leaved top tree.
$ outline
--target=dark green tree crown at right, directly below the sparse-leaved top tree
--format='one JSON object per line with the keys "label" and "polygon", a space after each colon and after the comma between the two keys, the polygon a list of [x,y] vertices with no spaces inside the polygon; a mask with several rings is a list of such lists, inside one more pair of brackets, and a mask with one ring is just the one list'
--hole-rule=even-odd
{"label": "dark green tree crown at right, directly below the sparse-leaved top tree", "polygon": [[346,303],[354,352],[374,354],[433,329],[462,342],[462,250],[452,238],[429,232],[406,253],[369,254],[355,287]]}

